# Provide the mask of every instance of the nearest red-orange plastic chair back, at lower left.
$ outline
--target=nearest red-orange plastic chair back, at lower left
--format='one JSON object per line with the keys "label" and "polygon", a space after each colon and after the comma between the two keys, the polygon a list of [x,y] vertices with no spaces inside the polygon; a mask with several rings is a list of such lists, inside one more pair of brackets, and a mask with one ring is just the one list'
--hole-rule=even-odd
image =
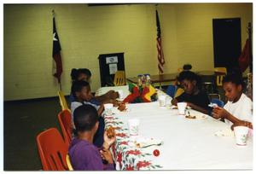
{"label": "nearest red-orange plastic chair back, at lower left", "polygon": [[41,132],[37,136],[38,152],[44,171],[68,171],[67,144],[55,128]]}

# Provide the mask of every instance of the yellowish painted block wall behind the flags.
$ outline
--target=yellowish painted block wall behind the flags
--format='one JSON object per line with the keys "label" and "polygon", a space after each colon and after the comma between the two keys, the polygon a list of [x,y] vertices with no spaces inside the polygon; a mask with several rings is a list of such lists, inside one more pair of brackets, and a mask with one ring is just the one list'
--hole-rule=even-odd
{"label": "yellowish painted block wall behind the flags", "polygon": [[[61,40],[62,90],[70,92],[70,71],[88,67],[92,90],[100,87],[97,56],[125,52],[126,77],[158,73],[154,5],[88,7],[87,4],[4,6],[4,100],[56,96],[52,77],[52,16]],[[241,17],[242,45],[251,3],[160,4],[165,73],[184,63],[213,69],[212,18]]]}

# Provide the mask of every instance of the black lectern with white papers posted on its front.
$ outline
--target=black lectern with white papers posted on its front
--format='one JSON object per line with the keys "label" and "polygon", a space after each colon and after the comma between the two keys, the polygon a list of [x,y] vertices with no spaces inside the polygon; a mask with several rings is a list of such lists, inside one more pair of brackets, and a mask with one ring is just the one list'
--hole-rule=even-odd
{"label": "black lectern with white papers posted on its front", "polygon": [[102,54],[98,59],[102,87],[113,85],[114,73],[125,71],[124,53]]}

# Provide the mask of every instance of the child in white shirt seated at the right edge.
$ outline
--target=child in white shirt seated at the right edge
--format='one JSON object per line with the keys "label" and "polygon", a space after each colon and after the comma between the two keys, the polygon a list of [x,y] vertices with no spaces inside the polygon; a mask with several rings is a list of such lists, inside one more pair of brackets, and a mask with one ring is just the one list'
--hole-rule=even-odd
{"label": "child in white shirt seated at the right edge", "polygon": [[253,102],[243,92],[241,74],[229,74],[223,79],[223,88],[228,102],[222,107],[214,107],[212,117],[223,118],[231,129],[238,125],[253,129]]}

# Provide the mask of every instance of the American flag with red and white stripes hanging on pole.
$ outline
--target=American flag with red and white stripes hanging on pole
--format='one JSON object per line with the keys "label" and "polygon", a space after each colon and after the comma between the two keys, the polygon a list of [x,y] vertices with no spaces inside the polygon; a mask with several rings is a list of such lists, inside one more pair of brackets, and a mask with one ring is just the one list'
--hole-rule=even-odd
{"label": "American flag with red and white stripes hanging on pole", "polygon": [[160,20],[158,16],[158,11],[155,10],[155,15],[156,15],[156,27],[157,27],[157,58],[158,58],[158,69],[160,73],[164,73],[163,66],[166,63],[165,58],[164,58],[164,53],[162,49],[162,43],[161,43],[161,30],[160,30]]}

